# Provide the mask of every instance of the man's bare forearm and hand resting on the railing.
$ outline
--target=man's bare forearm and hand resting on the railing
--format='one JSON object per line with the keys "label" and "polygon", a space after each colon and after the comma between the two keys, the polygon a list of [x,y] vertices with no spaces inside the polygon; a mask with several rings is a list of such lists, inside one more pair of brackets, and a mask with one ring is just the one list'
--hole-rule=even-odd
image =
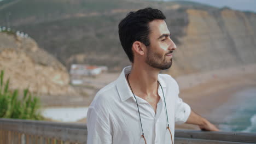
{"label": "man's bare forearm and hand resting on the railing", "polygon": [[191,110],[188,120],[185,123],[198,125],[201,130],[219,131],[214,124],[210,123],[207,119],[201,117],[193,110]]}

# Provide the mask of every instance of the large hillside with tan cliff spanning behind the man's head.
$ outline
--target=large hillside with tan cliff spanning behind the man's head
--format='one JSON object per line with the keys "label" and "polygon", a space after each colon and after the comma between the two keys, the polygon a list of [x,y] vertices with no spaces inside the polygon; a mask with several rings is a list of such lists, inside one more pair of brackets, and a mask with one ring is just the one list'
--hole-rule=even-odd
{"label": "large hillside with tan cliff spanning behind the man's head", "polygon": [[148,6],[164,11],[178,44],[173,68],[165,73],[178,76],[256,62],[254,13],[183,1],[22,0],[4,5],[0,25],[28,33],[67,69],[71,63],[108,65],[110,70],[129,65],[118,23],[129,11]]}

